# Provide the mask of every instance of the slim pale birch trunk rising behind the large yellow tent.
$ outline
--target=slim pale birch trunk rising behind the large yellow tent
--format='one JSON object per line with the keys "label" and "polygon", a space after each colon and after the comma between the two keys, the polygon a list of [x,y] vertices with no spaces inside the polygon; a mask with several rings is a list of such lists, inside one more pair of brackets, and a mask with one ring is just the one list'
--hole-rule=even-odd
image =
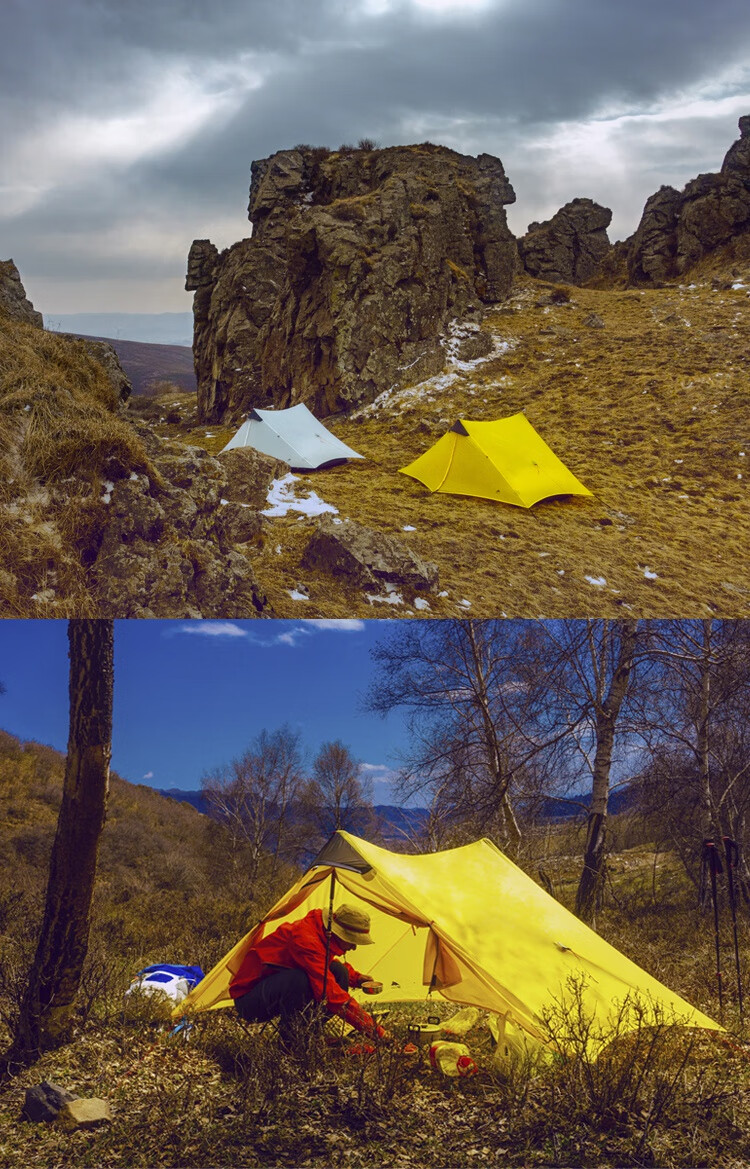
{"label": "slim pale birch trunk rising behind the large yellow tent", "polygon": [[636,651],[637,622],[619,623],[618,657],[607,693],[603,697],[596,714],[596,752],[591,786],[591,808],[586,823],[586,845],[583,871],[576,891],[576,913],[584,921],[593,924],[602,899],[606,859],[606,805],[610,795],[610,769],[617,718],[627,692],[633,655]]}

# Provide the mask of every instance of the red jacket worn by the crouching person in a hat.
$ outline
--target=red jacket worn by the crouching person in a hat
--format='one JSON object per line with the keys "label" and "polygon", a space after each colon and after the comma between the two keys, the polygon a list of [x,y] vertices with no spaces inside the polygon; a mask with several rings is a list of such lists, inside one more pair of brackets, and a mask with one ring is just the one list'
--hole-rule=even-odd
{"label": "red jacket worn by the crouching person in a hat", "polygon": [[[313,998],[317,1003],[324,997],[324,975],[326,970],[326,929],[322,922],[322,909],[311,909],[299,921],[284,922],[273,933],[262,938],[250,947],[242,964],[229,984],[232,998],[246,995],[257,982],[272,974],[272,967],[284,966],[304,970],[310,978]],[[335,934],[331,934],[328,960],[341,961],[346,953]],[[349,985],[359,987],[364,975],[343,962],[349,974]],[[343,990],[328,970],[325,982],[326,1007],[332,1015],[340,1015],[357,1031],[380,1032],[375,1021],[362,1010],[356,999]]]}

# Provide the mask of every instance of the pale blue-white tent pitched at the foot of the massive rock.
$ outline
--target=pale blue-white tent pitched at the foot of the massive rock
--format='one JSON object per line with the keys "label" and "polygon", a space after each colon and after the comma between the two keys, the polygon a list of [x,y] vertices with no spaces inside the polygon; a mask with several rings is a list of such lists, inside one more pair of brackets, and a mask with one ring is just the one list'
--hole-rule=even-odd
{"label": "pale blue-white tent pitched at the foot of the massive rock", "polygon": [[326,430],[301,402],[287,410],[252,410],[224,450],[236,447],[254,447],[296,471],[315,471],[346,458],[364,457]]}

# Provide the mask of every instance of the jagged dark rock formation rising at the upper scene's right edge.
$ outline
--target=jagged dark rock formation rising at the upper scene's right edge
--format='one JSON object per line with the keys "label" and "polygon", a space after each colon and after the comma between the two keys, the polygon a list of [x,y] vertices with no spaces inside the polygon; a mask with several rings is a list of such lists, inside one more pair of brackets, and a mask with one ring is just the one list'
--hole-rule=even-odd
{"label": "jagged dark rock formation rising at the upper scene's right edge", "polygon": [[718,174],[699,174],[680,192],[660,187],[644,207],[627,241],[633,284],[661,284],[681,276],[702,256],[750,229],[750,116]]}

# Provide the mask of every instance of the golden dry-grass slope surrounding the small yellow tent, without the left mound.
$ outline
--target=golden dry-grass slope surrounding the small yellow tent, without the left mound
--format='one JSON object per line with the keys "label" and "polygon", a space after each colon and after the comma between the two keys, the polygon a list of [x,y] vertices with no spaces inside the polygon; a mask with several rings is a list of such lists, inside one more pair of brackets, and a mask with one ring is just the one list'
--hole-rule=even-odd
{"label": "golden dry-grass slope surrounding the small yellow tent, without the left mound", "polygon": [[[305,572],[317,520],[290,513],[248,551],[273,615],[750,615],[750,263],[735,265],[730,288],[711,275],[645,291],[568,288],[551,304],[551,285],[523,278],[481,324],[494,355],[329,420],[364,459],[300,473],[297,494],[400,537],[438,566],[439,586],[387,603]],[[591,498],[526,510],[431,494],[398,473],[457,419],[521,410]],[[215,454],[236,428],[160,429]]]}

